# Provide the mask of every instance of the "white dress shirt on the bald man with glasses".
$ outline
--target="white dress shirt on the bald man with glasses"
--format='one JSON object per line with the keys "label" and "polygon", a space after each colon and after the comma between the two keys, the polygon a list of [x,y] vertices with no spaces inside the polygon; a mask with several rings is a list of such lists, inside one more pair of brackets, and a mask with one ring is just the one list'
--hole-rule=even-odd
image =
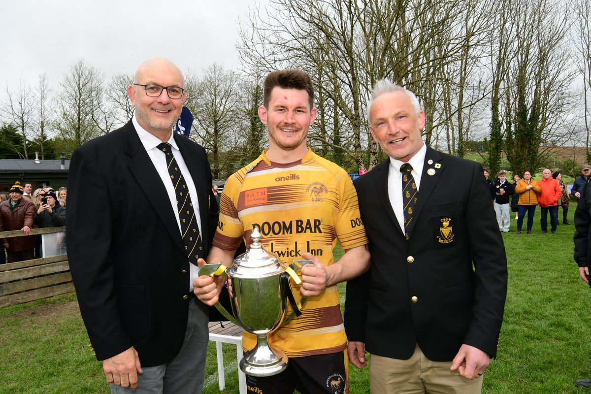
{"label": "white dress shirt on the bald man with glasses", "polygon": [[[139,125],[137,119],[135,119],[135,115],[131,120],[134,123],[135,131],[138,133],[139,141],[141,141],[142,145],[144,145],[144,148],[146,149],[146,152],[148,152],[148,156],[150,157],[152,164],[154,164],[156,171],[158,171],[158,175],[160,175],[160,178],[164,183],[164,187],[168,193],[168,200],[170,200],[170,205],[173,207],[173,211],[175,213],[174,217],[177,219],[178,233],[180,235],[182,230],[181,220],[178,217],[177,196],[174,191],[173,181],[170,179],[170,174],[168,174],[166,154],[157,148],[157,146],[160,145],[162,141],[160,141],[160,139],[156,136],[145,131],[145,129]],[[180,168],[181,172],[183,173],[183,178],[187,184],[187,188],[189,188],[189,196],[191,196],[191,201],[193,202],[195,217],[200,218],[201,216],[199,215],[199,200],[197,199],[197,190],[195,188],[195,184],[193,183],[193,178],[191,178],[189,168],[187,168],[187,164],[185,164],[183,155],[181,155],[181,152],[178,150],[177,143],[174,141],[172,130],[170,132],[170,138],[168,138],[167,142],[173,147],[172,150],[174,159],[176,159],[178,168]],[[202,233],[201,220],[197,220],[197,226],[199,227],[199,233]],[[187,261],[188,260],[189,259],[187,259]],[[189,291],[193,291],[193,281],[195,278],[197,278],[197,276],[199,276],[199,267],[194,264],[189,264],[189,269]]]}

